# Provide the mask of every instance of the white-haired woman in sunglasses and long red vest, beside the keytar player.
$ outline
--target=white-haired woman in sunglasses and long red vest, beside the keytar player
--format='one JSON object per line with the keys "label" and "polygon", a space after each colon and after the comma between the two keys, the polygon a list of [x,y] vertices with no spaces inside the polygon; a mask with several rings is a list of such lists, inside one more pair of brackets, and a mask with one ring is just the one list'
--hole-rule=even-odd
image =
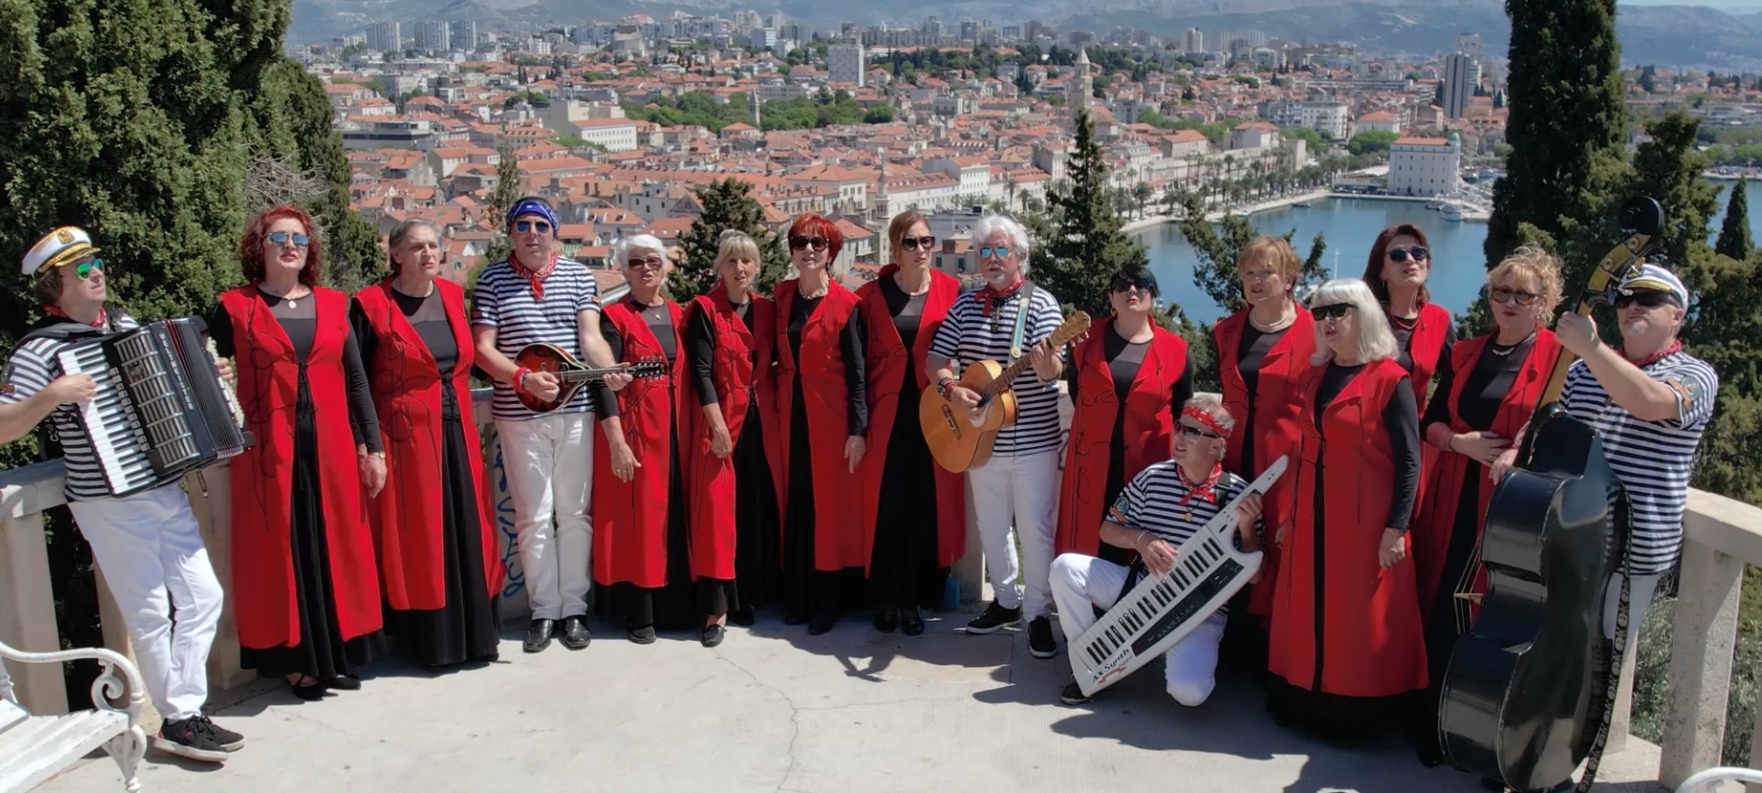
{"label": "white-haired woman in sunglasses and long red vest, beside the keytar player", "polygon": [[[1269,705],[1284,726],[1373,733],[1425,687],[1408,518],[1418,407],[1371,289],[1330,280],[1309,298],[1316,354],[1304,384],[1295,522],[1272,601]],[[1396,707],[1399,705],[1399,708]]]}

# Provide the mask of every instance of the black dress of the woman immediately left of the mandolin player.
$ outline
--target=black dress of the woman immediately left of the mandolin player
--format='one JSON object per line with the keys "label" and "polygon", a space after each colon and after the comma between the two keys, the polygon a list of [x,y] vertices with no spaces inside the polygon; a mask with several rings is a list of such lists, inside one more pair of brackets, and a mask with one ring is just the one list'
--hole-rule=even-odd
{"label": "black dress of the woman immediately left of the mandolin player", "polygon": [[[478,472],[470,469],[470,449],[465,446],[463,411],[449,386],[453,367],[458,365],[453,322],[439,289],[426,298],[393,289],[391,300],[416,328],[440,372],[440,548],[446,606],[400,611],[386,603],[386,633],[423,666],[495,661],[500,641],[499,597],[492,597],[483,587],[483,525],[474,504]],[[351,308],[351,324],[361,344],[361,358],[372,361],[379,351],[379,335],[359,303]]]}

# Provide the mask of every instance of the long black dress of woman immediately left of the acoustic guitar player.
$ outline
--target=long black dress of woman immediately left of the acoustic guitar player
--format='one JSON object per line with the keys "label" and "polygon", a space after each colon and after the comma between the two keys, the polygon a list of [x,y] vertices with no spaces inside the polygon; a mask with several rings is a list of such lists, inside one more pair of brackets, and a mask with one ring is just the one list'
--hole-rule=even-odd
{"label": "long black dress of woman immediately left of the acoustic guitar player", "polygon": [[[906,294],[893,278],[881,278],[893,330],[911,351],[923,321],[925,294]],[[941,606],[948,567],[937,555],[936,460],[918,426],[918,359],[906,356],[899,409],[886,439],[881,469],[881,504],[869,562],[869,596],[885,606]]]}

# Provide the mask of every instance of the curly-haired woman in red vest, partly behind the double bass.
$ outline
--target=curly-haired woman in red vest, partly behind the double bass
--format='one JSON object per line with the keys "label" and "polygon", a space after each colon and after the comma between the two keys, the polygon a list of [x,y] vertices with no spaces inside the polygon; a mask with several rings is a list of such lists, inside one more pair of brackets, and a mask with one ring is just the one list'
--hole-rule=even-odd
{"label": "curly-haired woman in red vest, partly behind the double bass", "polygon": [[[1501,455],[1515,458],[1559,358],[1559,342],[1547,330],[1561,300],[1559,263],[1542,250],[1519,248],[1487,273],[1487,298],[1494,331],[1450,349],[1420,421],[1425,442],[1438,449],[1413,523],[1431,678],[1429,719],[1422,719],[1427,724],[1438,723],[1438,686],[1450,648],[1473,624],[1473,604],[1457,596],[1485,592],[1480,529],[1492,500],[1491,465]],[[1418,740],[1418,751],[1425,765],[1443,761],[1436,730]]]}

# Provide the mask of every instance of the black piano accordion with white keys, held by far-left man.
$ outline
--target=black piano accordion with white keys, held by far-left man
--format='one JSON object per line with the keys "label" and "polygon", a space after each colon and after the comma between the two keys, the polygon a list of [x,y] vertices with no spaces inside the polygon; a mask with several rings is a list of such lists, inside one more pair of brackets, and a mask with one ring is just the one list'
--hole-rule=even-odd
{"label": "black piano accordion with white keys, held by far-left man", "polygon": [[111,495],[169,485],[252,446],[206,331],[196,317],[167,319],[58,354],[63,374],[97,381],[78,414]]}

